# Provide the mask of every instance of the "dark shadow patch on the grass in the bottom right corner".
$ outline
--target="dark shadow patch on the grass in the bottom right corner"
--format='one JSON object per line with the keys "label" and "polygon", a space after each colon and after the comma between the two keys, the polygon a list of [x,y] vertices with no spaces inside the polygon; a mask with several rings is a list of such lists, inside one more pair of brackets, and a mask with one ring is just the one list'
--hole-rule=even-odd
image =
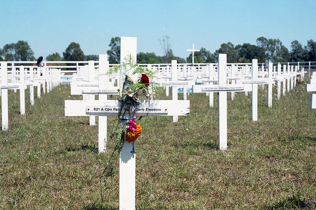
{"label": "dark shadow patch on the grass in the bottom right corner", "polygon": [[288,209],[304,209],[304,210],[314,210],[316,209],[315,202],[308,202],[302,200],[299,196],[292,196],[283,201],[276,203],[273,206],[266,206],[265,210],[288,210]]}

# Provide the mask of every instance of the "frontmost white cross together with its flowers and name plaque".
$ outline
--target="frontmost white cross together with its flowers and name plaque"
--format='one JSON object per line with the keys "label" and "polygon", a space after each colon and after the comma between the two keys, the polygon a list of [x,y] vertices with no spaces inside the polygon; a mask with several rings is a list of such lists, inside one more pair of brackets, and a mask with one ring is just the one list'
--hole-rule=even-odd
{"label": "frontmost white cross together with its flowers and name plaque", "polygon": [[[119,152],[119,209],[135,210],[136,140],[142,133],[137,117],[188,116],[190,101],[153,100],[155,84],[150,83],[149,78],[154,76],[153,72],[143,70],[132,62],[136,61],[137,38],[121,37],[120,44],[121,65],[113,69],[119,71],[118,100],[65,101],[65,116],[117,117],[111,136],[115,139],[113,153]],[[111,165],[113,153],[103,175],[114,175]]]}

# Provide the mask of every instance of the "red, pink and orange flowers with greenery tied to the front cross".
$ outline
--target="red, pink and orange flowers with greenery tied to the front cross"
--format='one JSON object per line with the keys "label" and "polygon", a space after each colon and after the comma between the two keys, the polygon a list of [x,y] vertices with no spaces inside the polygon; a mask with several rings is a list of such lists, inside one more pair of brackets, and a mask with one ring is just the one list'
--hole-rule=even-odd
{"label": "red, pink and orange flowers with greenery tied to the front cross", "polygon": [[[127,56],[125,62],[121,63],[121,65],[110,69],[108,74],[117,73],[118,70],[126,72],[132,70],[132,73],[130,75],[125,75],[121,90],[118,89],[118,102],[120,108],[115,121],[116,125],[113,126],[114,131],[111,134],[111,139],[115,139],[115,146],[108,164],[102,173],[102,175],[105,174],[105,176],[111,177],[114,176],[114,170],[110,161],[113,158],[115,151],[118,151],[118,153],[121,151],[125,141],[129,143],[133,142],[134,157],[134,141],[137,140],[142,133],[142,127],[139,123],[136,123],[136,107],[141,103],[141,98],[149,101],[152,100],[157,87],[156,83],[150,83],[150,78],[154,77],[154,72],[147,68],[139,67],[131,56]],[[138,79],[134,81],[132,77]]]}

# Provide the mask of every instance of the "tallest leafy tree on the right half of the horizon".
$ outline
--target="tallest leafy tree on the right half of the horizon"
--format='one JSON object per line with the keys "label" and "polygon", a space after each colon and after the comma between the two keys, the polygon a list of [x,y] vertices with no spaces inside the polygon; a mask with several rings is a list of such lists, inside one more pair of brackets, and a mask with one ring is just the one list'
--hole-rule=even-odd
{"label": "tallest leafy tree on the right half of the horizon", "polygon": [[266,62],[286,62],[289,60],[288,49],[279,39],[257,38],[257,45],[265,51]]}

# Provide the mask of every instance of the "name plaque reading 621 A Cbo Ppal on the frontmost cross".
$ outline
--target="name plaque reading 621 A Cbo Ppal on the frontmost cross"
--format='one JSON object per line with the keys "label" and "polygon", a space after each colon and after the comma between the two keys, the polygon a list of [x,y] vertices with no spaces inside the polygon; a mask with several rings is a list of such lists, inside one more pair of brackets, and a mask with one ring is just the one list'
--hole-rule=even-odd
{"label": "name plaque reading 621 A Cbo Ppal on the frontmost cross", "polygon": [[[115,113],[117,114],[120,106],[86,106],[86,113]],[[134,110],[127,110],[126,107],[123,111],[147,114],[147,113],[157,113],[157,114],[167,114],[168,107],[157,107],[157,106],[141,106],[138,105]]]}

